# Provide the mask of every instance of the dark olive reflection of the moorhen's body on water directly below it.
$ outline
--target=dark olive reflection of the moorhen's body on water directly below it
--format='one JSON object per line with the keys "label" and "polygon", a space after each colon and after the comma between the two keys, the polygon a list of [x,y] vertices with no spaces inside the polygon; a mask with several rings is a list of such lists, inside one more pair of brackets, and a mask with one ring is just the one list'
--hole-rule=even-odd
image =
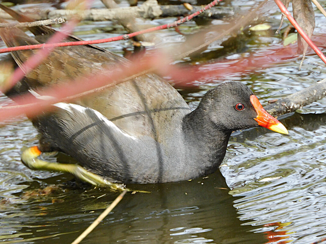
{"label": "dark olive reflection of the moorhen's body on water directly below it", "polygon": [[[252,243],[262,234],[242,226],[220,173],[181,183],[133,185],[151,194],[128,195],[89,240],[100,243]],[[130,210],[126,212],[126,210]],[[110,230],[110,235],[103,235]]]}

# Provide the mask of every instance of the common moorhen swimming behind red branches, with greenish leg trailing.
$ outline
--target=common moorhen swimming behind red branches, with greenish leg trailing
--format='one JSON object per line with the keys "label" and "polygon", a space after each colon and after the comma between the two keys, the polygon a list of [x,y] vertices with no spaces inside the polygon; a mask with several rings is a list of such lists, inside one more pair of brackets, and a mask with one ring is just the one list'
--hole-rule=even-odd
{"label": "common moorhen swimming behind red branches, with greenish leg trailing", "polygon": [[[1,5],[19,21],[31,19]],[[32,38],[19,29],[1,29],[7,46],[44,43],[55,31],[46,26],[28,28]],[[67,41],[79,40],[69,36]],[[32,50],[12,52],[19,66]],[[7,95],[113,68],[124,61],[111,52],[86,45],[59,47],[46,61],[26,75]],[[269,115],[244,84],[228,82],[209,90],[191,111],[181,95],[154,74],[105,89],[73,103],[54,104],[56,110],[31,118],[41,134],[38,147],[23,152],[22,161],[32,169],[68,171],[92,184],[175,182],[207,175],[222,162],[231,132],[263,126],[288,134]],[[37,159],[41,152],[61,151],[77,159],[72,164]]]}

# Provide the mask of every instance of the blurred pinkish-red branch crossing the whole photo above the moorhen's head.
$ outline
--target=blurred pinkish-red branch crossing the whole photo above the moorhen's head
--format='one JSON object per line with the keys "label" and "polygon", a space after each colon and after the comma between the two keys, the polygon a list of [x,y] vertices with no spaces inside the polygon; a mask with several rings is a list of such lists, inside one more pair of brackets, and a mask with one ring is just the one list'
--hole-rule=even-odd
{"label": "blurred pinkish-red branch crossing the whole photo above the moorhen's head", "polygon": [[[326,47],[323,35],[315,36],[314,40],[320,47]],[[147,55],[141,58],[139,55],[135,55],[133,61],[127,64],[120,63],[115,68],[104,70],[96,75],[79,77],[74,81],[64,82],[59,86],[39,90],[39,95],[47,98],[46,100],[38,100],[33,95],[27,94],[15,99],[15,102],[19,104],[18,106],[3,106],[0,104],[0,106],[3,106],[0,108],[0,120],[24,114],[29,116],[37,115],[42,111],[50,110],[51,104],[71,101],[100,91],[125,82],[132,77],[148,73],[149,70],[156,70],[161,76],[169,75],[172,82],[175,83],[175,87],[189,88],[190,86],[198,86],[198,83],[204,84],[212,83],[212,80],[216,82],[216,80],[230,79],[230,75],[242,75],[245,72],[264,69],[273,66],[275,63],[297,58],[295,45],[287,47],[274,45],[259,50],[259,52],[256,51],[246,58],[219,61],[215,64],[205,64],[191,68],[180,68],[169,64],[171,60],[163,53],[147,52]],[[92,82],[89,82],[90,80]]]}

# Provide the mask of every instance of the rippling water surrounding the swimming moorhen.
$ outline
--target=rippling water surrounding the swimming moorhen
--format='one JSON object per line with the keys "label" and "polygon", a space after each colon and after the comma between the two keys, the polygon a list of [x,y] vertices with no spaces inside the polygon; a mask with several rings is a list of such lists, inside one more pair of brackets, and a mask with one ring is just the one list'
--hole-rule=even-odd
{"label": "rippling water surrounding the swimming moorhen", "polygon": [[[231,3],[245,4],[244,8],[257,4],[240,0]],[[267,16],[278,20],[273,1],[270,6]],[[325,34],[326,20],[318,11],[316,17],[316,32]],[[157,25],[171,20],[175,19],[147,23]],[[99,39],[119,33],[120,27],[106,33],[103,28],[107,25],[115,26],[108,21],[88,23],[79,26],[76,34],[79,32],[84,39]],[[190,22],[180,29],[194,33],[198,27]],[[89,30],[100,31],[82,33]],[[185,39],[173,29],[159,36],[167,46]],[[223,54],[224,59],[206,57],[207,66],[259,53],[272,45],[282,46],[280,37],[273,34],[250,36],[237,45]],[[101,46],[122,55],[123,47],[130,48],[130,43]],[[218,49],[218,43],[212,44],[206,53],[215,57]],[[192,65],[195,62],[200,61]],[[301,71],[299,63],[299,58],[284,60],[244,74],[217,76],[198,89],[180,92],[195,107],[207,89],[237,80],[250,86],[266,104],[326,78],[325,65],[316,55],[306,57]],[[8,100],[1,97],[1,102]],[[215,172],[180,183],[130,185],[151,194],[127,194],[82,243],[311,243],[326,237],[325,108],[326,100],[320,100],[303,108],[301,114],[281,118],[289,135],[264,128],[235,132],[220,167],[225,178]],[[70,243],[118,195],[105,189],[70,187],[66,183],[72,177],[66,174],[27,169],[20,162],[21,150],[36,145],[36,136],[36,130],[24,117],[1,123],[0,243]],[[58,160],[66,159],[58,156]],[[44,194],[48,186],[53,186],[52,192]],[[39,195],[34,196],[36,193]]]}

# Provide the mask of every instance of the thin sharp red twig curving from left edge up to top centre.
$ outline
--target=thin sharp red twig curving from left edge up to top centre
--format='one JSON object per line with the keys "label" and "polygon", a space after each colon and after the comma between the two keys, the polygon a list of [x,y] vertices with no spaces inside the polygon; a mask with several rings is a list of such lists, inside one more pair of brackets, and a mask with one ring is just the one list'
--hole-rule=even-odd
{"label": "thin sharp red twig curving from left edge up to top centre", "polygon": [[99,44],[99,43],[113,42],[113,41],[119,41],[119,40],[128,40],[131,37],[134,37],[136,35],[145,34],[145,33],[149,33],[152,31],[158,31],[158,30],[163,30],[163,29],[169,29],[171,27],[177,27],[177,26],[185,23],[186,21],[193,19],[194,17],[203,13],[207,9],[214,7],[220,1],[222,1],[222,0],[214,0],[213,2],[209,3],[208,5],[206,5],[199,11],[197,11],[196,13],[193,13],[181,20],[174,21],[172,23],[168,23],[165,25],[160,25],[160,26],[149,28],[149,29],[141,30],[138,32],[130,33],[130,34],[124,34],[124,35],[120,35],[120,36],[116,36],[116,37],[98,39],[98,40],[90,40],[90,41],[62,42],[62,43],[52,43],[52,44],[38,44],[38,45],[8,47],[8,48],[0,49],[0,53],[19,51],[19,50],[40,49],[40,48],[45,48],[45,47],[67,47],[67,46],[78,46],[78,45],[88,45],[88,44]]}

